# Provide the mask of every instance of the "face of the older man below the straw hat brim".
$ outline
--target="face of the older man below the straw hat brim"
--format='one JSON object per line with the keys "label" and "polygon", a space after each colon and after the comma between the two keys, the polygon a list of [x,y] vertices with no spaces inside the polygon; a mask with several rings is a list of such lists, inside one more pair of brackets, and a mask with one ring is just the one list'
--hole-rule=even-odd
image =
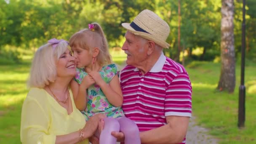
{"label": "face of the older man below the straw hat brim", "polygon": [[127,54],[126,64],[134,67],[147,59],[147,43],[131,32],[125,33],[122,50]]}

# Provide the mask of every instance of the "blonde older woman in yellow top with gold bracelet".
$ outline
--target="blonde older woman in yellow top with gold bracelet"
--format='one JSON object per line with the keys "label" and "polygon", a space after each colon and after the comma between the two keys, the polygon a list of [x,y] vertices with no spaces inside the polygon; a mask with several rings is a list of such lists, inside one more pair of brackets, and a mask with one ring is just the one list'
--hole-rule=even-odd
{"label": "blonde older woman in yellow top with gold bracelet", "polygon": [[75,107],[69,82],[76,75],[75,58],[65,40],[51,39],[35,53],[21,112],[24,144],[88,144],[104,115],[87,122]]}

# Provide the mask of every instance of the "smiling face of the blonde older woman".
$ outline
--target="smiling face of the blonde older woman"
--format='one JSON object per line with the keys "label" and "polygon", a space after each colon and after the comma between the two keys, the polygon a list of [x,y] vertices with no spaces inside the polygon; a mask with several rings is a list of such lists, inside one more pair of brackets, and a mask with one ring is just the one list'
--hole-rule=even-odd
{"label": "smiling face of the blonde older woman", "polygon": [[75,58],[69,49],[61,54],[56,65],[57,77],[74,77],[76,75]]}

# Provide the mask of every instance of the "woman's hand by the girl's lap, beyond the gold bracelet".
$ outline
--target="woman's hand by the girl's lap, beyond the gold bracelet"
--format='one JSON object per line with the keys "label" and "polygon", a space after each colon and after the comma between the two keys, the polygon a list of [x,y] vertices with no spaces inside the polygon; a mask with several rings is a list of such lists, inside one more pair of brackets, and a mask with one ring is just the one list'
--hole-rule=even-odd
{"label": "woman's hand by the girl's lap, beyond the gold bracelet", "polygon": [[89,138],[93,136],[95,131],[98,128],[98,125],[100,123],[100,120],[105,118],[106,116],[103,114],[96,114],[89,118],[89,120],[86,122],[85,127],[83,128],[84,137]]}

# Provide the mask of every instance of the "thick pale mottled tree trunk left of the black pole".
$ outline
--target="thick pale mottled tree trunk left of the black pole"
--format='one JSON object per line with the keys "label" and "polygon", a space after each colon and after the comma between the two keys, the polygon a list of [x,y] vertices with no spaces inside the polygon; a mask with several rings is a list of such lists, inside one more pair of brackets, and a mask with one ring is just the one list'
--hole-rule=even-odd
{"label": "thick pale mottled tree trunk left of the black pole", "polygon": [[221,75],[218,89],[232,93],[235,89],[234,0],[222,0],[221,16]]}

